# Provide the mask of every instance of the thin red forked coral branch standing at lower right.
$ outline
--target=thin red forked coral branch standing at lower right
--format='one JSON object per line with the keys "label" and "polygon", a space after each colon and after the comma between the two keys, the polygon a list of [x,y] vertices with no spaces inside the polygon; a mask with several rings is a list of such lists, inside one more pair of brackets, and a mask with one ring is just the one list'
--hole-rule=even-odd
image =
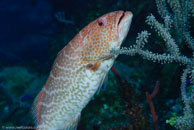
{"label": "thin red forked coral branch standing at lower right", "polygon": [[158,119],[158,116],[156,115],[155,108],[154,108],[154,105],[152,103],[152,99],[156,96],[156,94],[158,93],[158,90],[159,90],[159,81],[156,82],[156,86],[155,86],[154,91],[152,92],[151,95],[149,95],[148,92],[146,92],[146,99],[147,99],[147,102],[148,102],[150,109],[151,109],[155,130],[158,130],[157,122],[156,122]]}

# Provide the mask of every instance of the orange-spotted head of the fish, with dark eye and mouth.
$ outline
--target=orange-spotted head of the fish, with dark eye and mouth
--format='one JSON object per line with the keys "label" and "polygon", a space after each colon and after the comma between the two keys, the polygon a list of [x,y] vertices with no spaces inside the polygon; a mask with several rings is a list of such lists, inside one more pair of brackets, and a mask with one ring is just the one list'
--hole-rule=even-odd
{"label": "orange-spotted head of the fish, with dark eye and mouth", "polygon": [[83,48],[81,55],[85,61],[106,59],[111,49],[120,48],[127,36],[133,14],[130,11],[115,11],[105,14],[89,25],[83,32]]}

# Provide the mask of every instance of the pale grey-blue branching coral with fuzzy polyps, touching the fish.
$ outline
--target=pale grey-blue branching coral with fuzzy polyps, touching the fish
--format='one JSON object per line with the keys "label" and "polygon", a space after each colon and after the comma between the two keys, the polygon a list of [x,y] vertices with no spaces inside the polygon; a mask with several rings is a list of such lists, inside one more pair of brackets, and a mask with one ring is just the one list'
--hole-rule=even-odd
{"label": "pale grey-blue branching coral with fuzzy polyps, touching the fish", "polygon": [[[185,65],[185,70],[181,77],[181,96],[184,103],[183,116],[180,116],[175,121],[175,127],[178,129],[194,128],[194,115],[191,104],[193,103],[194,92],[188,95],[186,91],[186,80],[190,78],[190,84],[194,84],[194,59],[181,54],[180,45],[186,43],[194,53],[194,39],[189,31],[189,19],[194,16],[193,0],[155,0],[158,13],[163,18],[164,23],[156,20],[154,15],[150,15],[146,19],[146,23],[153,28],[157,34],[164,40],[167,47],[167,52],[163,54],[153,53],[149,50],[143,50],[145,43],[148,42],[148,37],[151,35],[148,31],[142,31],[136,38],[136,45],[129,48],[121,48],[120,50],[112,50],[112,54],[138,54],[144,59],[159,63],[172,63]],[[166,5],[169,5],[168,8]],[[172,13],[170,13],[172,12]],[[173,32],[178,32],[173,38]],[[188,76],[190,75],[190,76]],[[190,86],[187,86],[190,87]]]}

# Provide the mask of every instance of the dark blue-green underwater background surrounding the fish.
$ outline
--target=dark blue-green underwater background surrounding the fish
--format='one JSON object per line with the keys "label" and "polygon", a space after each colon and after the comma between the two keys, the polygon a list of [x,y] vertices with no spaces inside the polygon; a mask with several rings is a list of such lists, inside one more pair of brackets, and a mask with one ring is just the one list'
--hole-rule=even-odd
{"label": "dark blue-green underwater background surrounding the fish", "polygon": [[121,45],[128,53],[118,55],[77,129],[194,129],[192,0],[0,0],[1,130],[36,128],[32,104],[60,50],[118,10],[133,13]]}

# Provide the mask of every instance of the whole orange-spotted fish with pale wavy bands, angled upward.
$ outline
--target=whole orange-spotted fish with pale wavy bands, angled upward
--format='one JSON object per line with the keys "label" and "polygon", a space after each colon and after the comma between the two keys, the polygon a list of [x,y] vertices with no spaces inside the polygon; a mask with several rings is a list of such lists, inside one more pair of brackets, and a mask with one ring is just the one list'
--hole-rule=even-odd
{"label": "whole orange-spotted fish with pale wavy bands, angled upward", "polygon": [[76,129],[82,109],[102,85],[126,37],[131,12],[105,14],[83,28],[58,54],[34,101],[37,130]]}

